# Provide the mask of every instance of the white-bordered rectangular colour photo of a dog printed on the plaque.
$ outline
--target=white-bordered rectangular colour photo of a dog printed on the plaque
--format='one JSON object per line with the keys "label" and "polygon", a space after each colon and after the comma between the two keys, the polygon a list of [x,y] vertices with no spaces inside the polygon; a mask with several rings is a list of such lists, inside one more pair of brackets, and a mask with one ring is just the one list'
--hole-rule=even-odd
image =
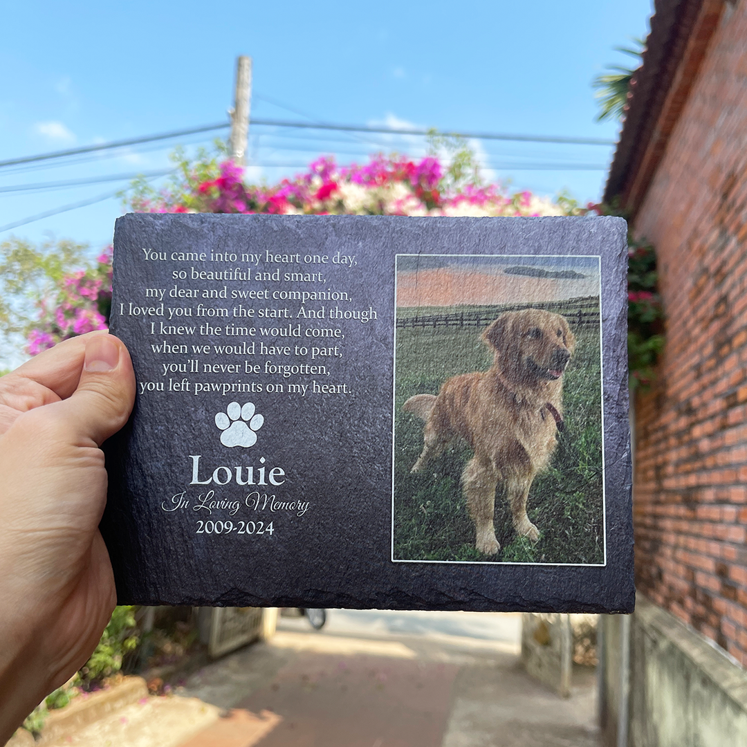
{"label": "white-bordered rectangular colour photo of a dog printed on the plaque", "polygon": [[392,560],[604,563],[595,257],[398,255]]}

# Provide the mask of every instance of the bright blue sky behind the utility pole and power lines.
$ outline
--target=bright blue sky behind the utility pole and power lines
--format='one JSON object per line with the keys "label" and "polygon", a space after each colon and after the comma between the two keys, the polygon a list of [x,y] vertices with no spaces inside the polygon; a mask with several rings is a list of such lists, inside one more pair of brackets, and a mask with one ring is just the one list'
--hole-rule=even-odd
{"label": "bright blue sky behind the utility pole and power lines", "polygon": [[[0,161],[225,120],[241,54],[254,61],[252,115],[258,118],[616,139],[616,123],[595,123],[590,81],[609,63],[627,63],[613,47],[645,36],[650,13],[650,0],[492,0],[459,7],[439,0],[7,2]],[[211,137],[182,143],[209,144]],[[43,168],[0,168],[0,226],[128,182],[7,187],[164,170],[177,142]],[[489,176],[539,194],[565,188],[584,202],[601,196],[603,169],[518,167],[606,167],[613,154],[607,146],[474,145]],[[275,182],[320,153],[347,163],[391,149],[422,155],[424,142],[257,125],[249,156],[258,165],[249,178]],[[53,235],[100,247],[111,241],[122,212],[121,200],[111,198],[0,232],[0,241]]]}

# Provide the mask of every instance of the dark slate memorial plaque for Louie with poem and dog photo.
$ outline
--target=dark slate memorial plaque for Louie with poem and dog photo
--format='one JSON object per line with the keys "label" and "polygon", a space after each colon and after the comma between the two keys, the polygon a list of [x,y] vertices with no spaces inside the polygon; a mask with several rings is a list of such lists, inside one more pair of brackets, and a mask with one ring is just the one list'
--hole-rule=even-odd
{"label": "dark slate memorial plaque for Louie with poem and dog photo", "polygon": [[117,220],[120,604],[631,611],[625,235]]}

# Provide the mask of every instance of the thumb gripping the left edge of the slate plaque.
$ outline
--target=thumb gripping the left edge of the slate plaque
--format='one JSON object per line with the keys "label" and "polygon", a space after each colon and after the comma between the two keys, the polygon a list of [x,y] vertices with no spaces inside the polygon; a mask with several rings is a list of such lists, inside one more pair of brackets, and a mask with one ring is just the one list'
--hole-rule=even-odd
{"label": "thumb gripping the left edge of the slate plaque", "polygon": [[135,397],[135,376],[125,344],[114,335],[91,335],[78,387],[58,404],[81,438],[106,441],[127,422]]}

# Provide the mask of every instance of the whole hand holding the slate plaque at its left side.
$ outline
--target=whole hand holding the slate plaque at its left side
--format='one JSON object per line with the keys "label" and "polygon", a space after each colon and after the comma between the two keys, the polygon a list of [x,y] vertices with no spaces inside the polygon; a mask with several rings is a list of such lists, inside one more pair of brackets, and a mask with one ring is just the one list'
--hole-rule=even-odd
{"label": "whole hand holding the slate plaque at its left side", "polygon": [[99,447],[134,390],[124,344],[103,332],[0,378],[0,744],[85,663],[111,616]]}

